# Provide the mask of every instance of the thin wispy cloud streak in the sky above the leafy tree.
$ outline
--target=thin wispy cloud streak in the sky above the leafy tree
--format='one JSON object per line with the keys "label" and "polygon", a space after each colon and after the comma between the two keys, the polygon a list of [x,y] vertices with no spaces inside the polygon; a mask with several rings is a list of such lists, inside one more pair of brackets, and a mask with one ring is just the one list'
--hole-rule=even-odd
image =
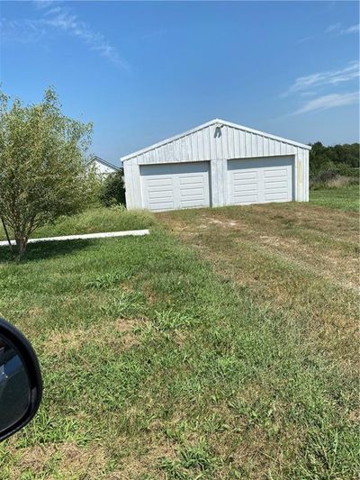
{"label": "thin wispy cloud streak in the sky above the leafy tree", "polygon": [[58,2],[37,0],[33,3],[40,11],[40,18],[9,20],[1,19],[3,39],[20,41],[39,41],[50,32],[64,32],[67,35],[83,41],[90,49],[101,57],[130,70],[129,63],[123,59],[119,51],[108,41],[103,33],[94,30],[80,20],[76,14]]}

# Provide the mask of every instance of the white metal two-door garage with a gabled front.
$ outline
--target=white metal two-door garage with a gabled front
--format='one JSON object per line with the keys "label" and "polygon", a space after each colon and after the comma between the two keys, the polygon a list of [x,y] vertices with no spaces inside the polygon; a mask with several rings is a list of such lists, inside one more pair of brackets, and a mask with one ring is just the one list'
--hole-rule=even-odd
{"label": "white metal two-door garage with a gabled front", "polygon": [[216,119],[121,158],[127,207],[307,202],[309,149]]}

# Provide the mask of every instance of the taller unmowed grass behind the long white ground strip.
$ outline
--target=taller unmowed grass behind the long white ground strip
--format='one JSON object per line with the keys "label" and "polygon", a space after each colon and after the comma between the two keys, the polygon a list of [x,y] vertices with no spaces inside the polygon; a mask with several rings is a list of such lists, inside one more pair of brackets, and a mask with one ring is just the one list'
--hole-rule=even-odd
{"label": "taller unmowed grass behind the long white ground strip", "polygon": [[[146,211],[121,212],[116,208],[94,208],[71,217],[60,217],[56,223],[34,231],[32,237],[58,237],[60,235],[102,231],[142,230],[153,225],[154,221],[154,216]],[[0,240],[5,240],[1,224]]]}

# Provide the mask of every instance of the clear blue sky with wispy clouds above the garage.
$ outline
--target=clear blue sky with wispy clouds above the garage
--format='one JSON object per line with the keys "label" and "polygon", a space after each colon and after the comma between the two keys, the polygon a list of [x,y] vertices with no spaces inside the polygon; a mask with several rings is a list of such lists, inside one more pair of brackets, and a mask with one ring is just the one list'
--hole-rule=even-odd
{"label": "clear blue sky with wispy clouds above the garage", "polygon": [[359,131],[357,2],[1,2],[1,83],[94,122],[109,161],[212,118],[293,140]]}

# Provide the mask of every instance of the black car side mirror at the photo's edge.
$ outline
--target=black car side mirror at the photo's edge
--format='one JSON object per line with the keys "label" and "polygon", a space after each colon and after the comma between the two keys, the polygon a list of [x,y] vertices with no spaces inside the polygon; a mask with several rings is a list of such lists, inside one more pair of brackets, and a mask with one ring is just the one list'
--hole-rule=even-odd
{"label": "black car side mirror at the photo's edge", "polygon": [[0,441],[31,421],[41,394],[39,362],[29,340],[0,318]]}

